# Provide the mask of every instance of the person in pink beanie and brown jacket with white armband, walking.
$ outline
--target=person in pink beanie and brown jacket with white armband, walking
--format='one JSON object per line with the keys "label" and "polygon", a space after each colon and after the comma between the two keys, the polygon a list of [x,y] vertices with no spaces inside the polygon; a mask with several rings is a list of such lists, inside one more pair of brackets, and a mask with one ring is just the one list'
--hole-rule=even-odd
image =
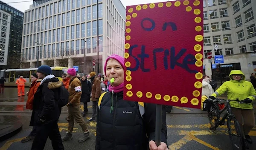
{"label": "person in pink beanie and brown jacket with white armband, walking", "polygon": [[81,82],[76,77],[76,70],[74,68],[70,68],[67,70],[67,77],[70,78],[70,85],[68,88],[68,92],[70,93],[69,96],[69,103],[67,104],[68,107],[68,115],[67,115],[67,122],[68,122],[68,130],[65,136],[61,137],[62,141],[72,140],[72,132],[74,128],[74,120],[81,126],[83,130],[83,136],[79,138],[78,142],[84,142],[86,139],[90,137],[90,132],[88,127],[81,116],[80,113],[80,98],[81,98]]}

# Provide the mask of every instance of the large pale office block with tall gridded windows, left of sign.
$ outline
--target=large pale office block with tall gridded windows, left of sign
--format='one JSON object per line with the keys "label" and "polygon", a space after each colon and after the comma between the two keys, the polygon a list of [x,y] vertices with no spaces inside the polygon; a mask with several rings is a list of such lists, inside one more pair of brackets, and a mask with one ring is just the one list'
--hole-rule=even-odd
{"label": "large pale office block with tall gridded windows, left of sign", "polygon": [[[125,13],[120,0],[42,0],[25,11],[22,53],[23,66],[79,66],[93,71],[92,61],[99,50],[99,72],[111,54],[124,54]],[[97,24],[98,15],[98,24]],[[99,40],[97,41],[97,33]],[[99,45],[99,46],[97,46]]]}

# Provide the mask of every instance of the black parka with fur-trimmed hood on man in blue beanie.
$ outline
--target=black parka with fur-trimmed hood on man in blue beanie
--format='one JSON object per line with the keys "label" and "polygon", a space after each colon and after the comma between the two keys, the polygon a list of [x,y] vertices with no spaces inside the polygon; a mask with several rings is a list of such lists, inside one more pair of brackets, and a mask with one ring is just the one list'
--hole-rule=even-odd
{"label": "black parka with fur-trimmed hood on man in blue beanie", "polygon": [[[43,80],[34,95],[33,111],[30,126],[38,126],[56,122],[61,114],[58,105],[59,90],[62,82],[58,78]],[[51,89],[49,89],[51,88]],[[45,122],[41,122],[41,120]]]}

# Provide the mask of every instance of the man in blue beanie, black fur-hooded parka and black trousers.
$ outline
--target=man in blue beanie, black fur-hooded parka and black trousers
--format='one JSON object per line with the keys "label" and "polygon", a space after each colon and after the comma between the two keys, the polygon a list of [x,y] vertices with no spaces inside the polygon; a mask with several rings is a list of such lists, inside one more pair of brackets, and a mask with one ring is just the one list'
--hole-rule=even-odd
{"label": "man in blue beanie, black fur-hooded parka and black trousers", "polygon": [[58,100],[62,83],[55,78],[48,65],[40,66],[36,75],[42,81],[34,95],[30,125],[37,126],[37,129],[31,150],[44,150],[48,137],[52,140],[53,150],[64,150],[58,129],[58,117],[61,113]]}

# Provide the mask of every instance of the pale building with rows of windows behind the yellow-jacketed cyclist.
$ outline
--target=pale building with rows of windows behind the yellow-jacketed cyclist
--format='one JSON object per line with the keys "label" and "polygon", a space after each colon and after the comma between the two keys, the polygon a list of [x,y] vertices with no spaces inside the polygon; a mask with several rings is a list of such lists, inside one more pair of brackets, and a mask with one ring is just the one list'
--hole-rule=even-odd
{"label": "pale building with rows of windows behind the yellow-jacketed cyclist", "polygon": [[[241,69],[247,79],[256,72],[256,0],[204,0],[204,73],[229,80]],[[218,49],[215,50],[215,44]],[[207,53],[224,55],[224,63],[211,71]],[[215,66],[215,65],[214,65]]]}

